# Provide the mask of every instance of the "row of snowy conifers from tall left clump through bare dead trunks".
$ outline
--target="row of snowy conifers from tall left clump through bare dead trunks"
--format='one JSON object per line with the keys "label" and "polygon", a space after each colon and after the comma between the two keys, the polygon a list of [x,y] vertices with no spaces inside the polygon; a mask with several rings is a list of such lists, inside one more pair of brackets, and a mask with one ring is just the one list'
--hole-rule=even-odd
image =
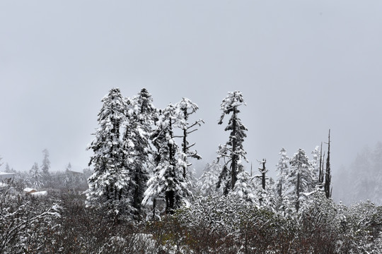
{"label": "row of snowy conifers from tall left clump through bare dead trunks", "polygon": [[102,102],[95,138],[88,147],[93,150],[89,166],[94,167],[88,179],[88,207],[107,210],[115,218],[140,220],[173,214],[189,205],[195,193],[236,195],[284,214],[299,212],[317,191],[330,198],[330,133],[325,171],[322,147],[313,150],[313,159],[302,149],[289,158],[282,148],[276,182],[267,176],[266,159],[259,161],[260,175],[245,170],[243,161],[248,160],[243,143],[248,128],[239,117],[245,106],[239,91],[228,92],[221,102],[219,124],[228,119],[224,129],[228,141],[219,145],[216,160],[207,164],[196,184],[190,159],[201,157],[191,149],[195,143],[188,140],[203,123],[202,119],[190,121],[196,104],[183,98],[156,109],[145,88],[132,98],[122,97],[120,89],[113,88]]}

